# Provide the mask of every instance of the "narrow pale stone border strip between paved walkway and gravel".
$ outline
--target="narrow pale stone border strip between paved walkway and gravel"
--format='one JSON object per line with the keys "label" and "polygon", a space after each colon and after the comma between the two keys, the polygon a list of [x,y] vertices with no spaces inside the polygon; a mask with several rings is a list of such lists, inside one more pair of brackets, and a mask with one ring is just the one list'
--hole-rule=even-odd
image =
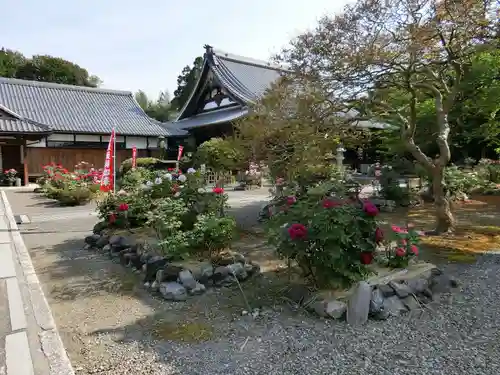
{"label": "narrow pale stone border strip between paved walkway and gravel", "polygon": [[[52,316],[49,303],[43,293],[40,280],[35,272],[28,249],[24,244],[16,219],[12,213],[12,208],[7,199],[5,191],[1,191],[1,199],[5,209],[5,216],[9,221],[12,246],[15,251],[17,261],[21,266],[23,276],[28,287],[31,309],[33,311],[40,339],[41,351],[47,360],[51,375],[74,375],[75,372],[64,348],[61,336],[57,330],[56,323]],[[28,327],[29,328],[29,327]]]}

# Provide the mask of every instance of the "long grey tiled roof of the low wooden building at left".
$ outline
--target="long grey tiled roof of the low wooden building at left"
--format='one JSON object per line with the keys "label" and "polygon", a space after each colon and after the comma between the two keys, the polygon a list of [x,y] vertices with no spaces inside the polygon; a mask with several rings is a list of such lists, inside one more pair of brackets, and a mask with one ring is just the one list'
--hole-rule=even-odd
{"label": "long grey tiled roof of the low wooden building at left", "polygon": [[57,132],[168,136],[131,92],[0,77],[0,105]]}

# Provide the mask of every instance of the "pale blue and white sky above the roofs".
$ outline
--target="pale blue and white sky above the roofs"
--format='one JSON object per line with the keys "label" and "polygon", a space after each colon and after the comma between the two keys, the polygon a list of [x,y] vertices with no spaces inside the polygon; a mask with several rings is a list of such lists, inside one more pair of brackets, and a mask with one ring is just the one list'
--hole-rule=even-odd
{"label": "pale blue and white sky above the roofs", "polygon": [[173,94],[209,44],[269,59],[349,0],[0,0],[0,47],[72,61],[105,88]]}

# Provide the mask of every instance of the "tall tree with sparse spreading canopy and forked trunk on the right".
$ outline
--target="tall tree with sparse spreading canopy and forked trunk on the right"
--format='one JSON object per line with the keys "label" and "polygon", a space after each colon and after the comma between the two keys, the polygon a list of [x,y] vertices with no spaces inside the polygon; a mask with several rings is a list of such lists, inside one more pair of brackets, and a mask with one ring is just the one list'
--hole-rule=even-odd
{"label": "tall tree with sparse spreading canopy and forked trunk on the right", "polygon": [[[432,174],[438,233],[454,226],[444,186],[451,158],[448,116],[471,55],[491,35],[490,15],[497,10],[492,0],[358,0],[343,14],[323,18],[280,56],[298,81],[322,87],[325,106],[333,111],[356,105],[371,118],[400,126],[407,149]],[[429,98],[437,156],[426,155],[415,142],[418,104]]]}

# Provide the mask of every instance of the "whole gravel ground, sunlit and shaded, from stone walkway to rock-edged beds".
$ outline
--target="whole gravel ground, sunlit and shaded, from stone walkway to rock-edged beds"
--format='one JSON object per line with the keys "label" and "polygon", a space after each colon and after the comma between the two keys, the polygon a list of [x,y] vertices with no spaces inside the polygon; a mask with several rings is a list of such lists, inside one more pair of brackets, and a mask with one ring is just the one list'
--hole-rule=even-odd
{"label": "whole gravel ground, sunlit and shaded, from stone walkway to rock-edged beds", "polygon": [[[26,213],[27,203],[11,204]],[[130,287],[137,285],[130,271],[82,250],[91,220],[23,229],[77,375],[500,374],[500,256],[442,265],[461,282],[459,292],[423,314],[354,329],[282,305],[255,320],[241,316],[237,290],[178,304],[151,298]],[[214,332],[206,341],[172,332],[175,340],[159,339],[153,331],[162,320],[201,322]]]}

